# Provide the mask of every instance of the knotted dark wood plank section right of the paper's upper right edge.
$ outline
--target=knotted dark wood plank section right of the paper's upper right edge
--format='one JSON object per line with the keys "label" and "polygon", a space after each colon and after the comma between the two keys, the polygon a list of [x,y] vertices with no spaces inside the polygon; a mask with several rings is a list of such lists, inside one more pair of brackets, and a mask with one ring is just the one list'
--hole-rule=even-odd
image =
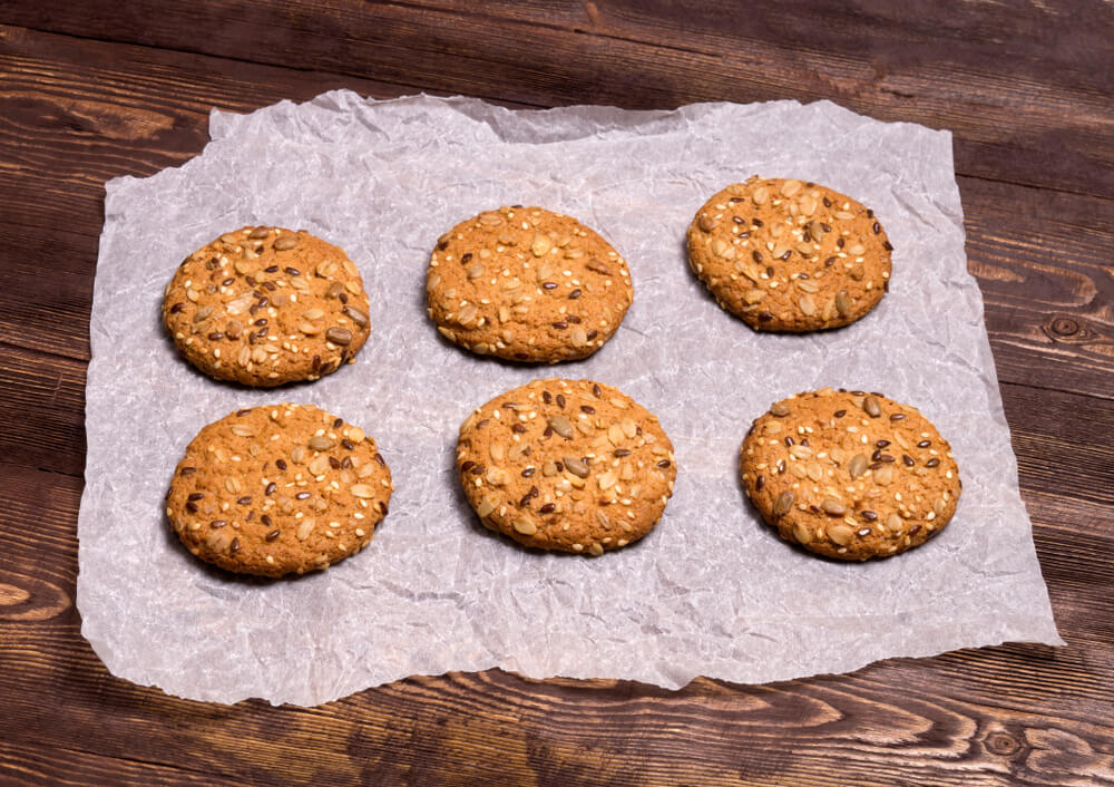
{"label": "knotted dark wood plank section right of the paper's upper right edge", "polygon": [[1114,398],[1114,201],[959,178],[1003,381]]}

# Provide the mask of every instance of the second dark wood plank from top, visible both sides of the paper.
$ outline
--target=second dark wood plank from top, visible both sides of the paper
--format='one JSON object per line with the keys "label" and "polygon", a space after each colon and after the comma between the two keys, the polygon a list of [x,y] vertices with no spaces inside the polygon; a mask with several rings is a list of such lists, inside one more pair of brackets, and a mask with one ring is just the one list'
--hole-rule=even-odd
{"label": "second dark wood plank from top, visible both sides of the paper", "polygon": [[[0,113],[0,161],[26,162],[0,167],[0,191],[28,195],[6,216],[0,286],[9,294],[0,301],[0,341],[76,359],[88,358],[104,181],[153,174],[199,153],[206,95],[246,111],[284,93],[305,99],[348,81],[380,96],[391,89],[348,77],[322,85],[302,71],[233,70],[214,58],[10,28],[0,36],[0,69],[19,96]],[[129,136],[121,128],[147,130]],[[1000,378],[1044,386],[1055,370],[1067,390],[1110,397],[1114,313],[1105,304],[1114,300],[1106,274],[1114,202],[959,182],[970,269],[986,299]]]}

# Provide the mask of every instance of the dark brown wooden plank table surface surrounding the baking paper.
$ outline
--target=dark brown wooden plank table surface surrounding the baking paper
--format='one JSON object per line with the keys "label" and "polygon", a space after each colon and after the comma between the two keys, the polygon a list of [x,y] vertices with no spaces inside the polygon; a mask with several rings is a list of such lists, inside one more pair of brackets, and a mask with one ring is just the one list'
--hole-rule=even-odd
{"label": "dark brown wooden plank table surface surrounding the baking paper", "polygon": [[[770,6],[0,7],[0,781],[1114,783],[1114,9]],[[450,673],[310,709],[184,701],[108,674],[74,606],[104,183],[199,153],[213,106],[338,87],[529,107],[829,98],[951,129],[969,269],[1068,647],[681,691]]]}

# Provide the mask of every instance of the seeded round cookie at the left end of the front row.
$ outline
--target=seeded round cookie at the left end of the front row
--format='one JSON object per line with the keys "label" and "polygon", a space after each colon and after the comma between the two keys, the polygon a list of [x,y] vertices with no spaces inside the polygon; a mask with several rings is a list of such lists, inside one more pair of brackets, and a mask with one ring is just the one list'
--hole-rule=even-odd
{"label": "seeded round cookie at the left end of the front row", "polygon": [[283,576],[367,546],[393,489],[362,429],[312,405],[268,405],[197,434],[174,472],[166,515],[203,561]]}

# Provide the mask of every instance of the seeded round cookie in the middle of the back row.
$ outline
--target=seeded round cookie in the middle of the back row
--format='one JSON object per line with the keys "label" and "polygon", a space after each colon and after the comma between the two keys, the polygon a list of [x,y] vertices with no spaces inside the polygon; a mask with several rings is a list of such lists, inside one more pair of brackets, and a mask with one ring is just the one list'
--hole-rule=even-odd
{"label": "seeded round cookie in the middle of the back row", "polygon": [[437,242],[429,315],[481,356],[555,363],[586,358],[634,300],[626,261],[596,232],[540,207],[500,207]]}

